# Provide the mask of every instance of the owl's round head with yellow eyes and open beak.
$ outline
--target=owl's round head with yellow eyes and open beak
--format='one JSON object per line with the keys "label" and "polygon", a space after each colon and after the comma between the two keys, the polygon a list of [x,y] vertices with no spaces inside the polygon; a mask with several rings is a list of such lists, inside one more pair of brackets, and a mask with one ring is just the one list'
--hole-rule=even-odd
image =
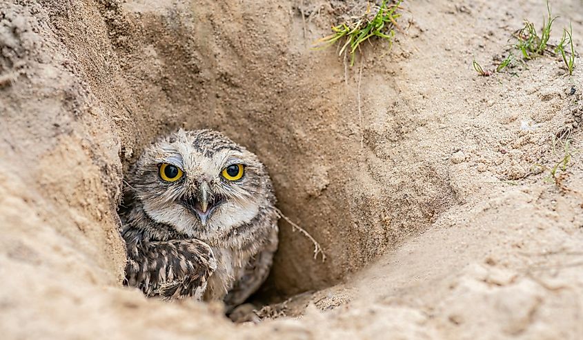
{"label": "owl's round head with yellow eyes and open beak", "polygon": [[189,237],[220,239],[275,203],[255,154],[212,130],[179,130],[160,139],[132,171],[135,203],[150,219]]}

